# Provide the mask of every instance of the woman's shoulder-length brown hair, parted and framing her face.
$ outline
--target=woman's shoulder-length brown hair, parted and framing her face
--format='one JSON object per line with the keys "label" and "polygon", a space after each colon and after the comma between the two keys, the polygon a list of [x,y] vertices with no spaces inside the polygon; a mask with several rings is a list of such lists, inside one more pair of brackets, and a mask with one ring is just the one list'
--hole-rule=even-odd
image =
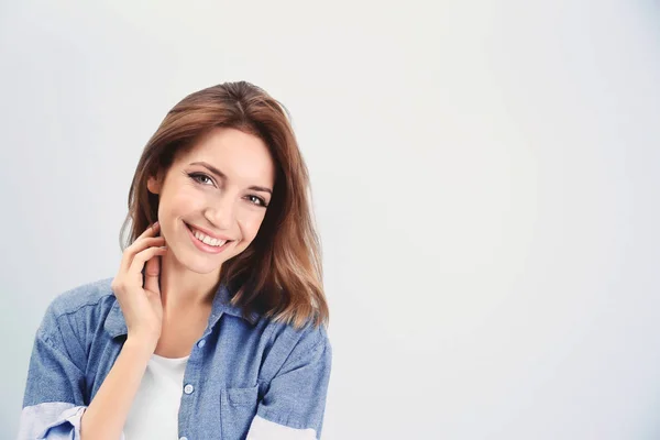
{"label": "woman's shoulder-length brown hair, parted and framing her face", "polygon": [[[307,166],[288,110],[263,89],[224,82],[194,92],[166,114],[138,163],[121,228],[125,250],[157,220],[158,196],[146,188],[150,176],[166,172],[177,152],[217,127],[258,136],[275,163],[273,196],[261,228],[242,253],[222,264],[219,283],[235,292],[231,301],[279,322],[301,328],[329,322],[322,285],[321,246],[311,217]],[[132,223],[132,224],[131,224]],[[122,243],[125,229],[129,238]]]}

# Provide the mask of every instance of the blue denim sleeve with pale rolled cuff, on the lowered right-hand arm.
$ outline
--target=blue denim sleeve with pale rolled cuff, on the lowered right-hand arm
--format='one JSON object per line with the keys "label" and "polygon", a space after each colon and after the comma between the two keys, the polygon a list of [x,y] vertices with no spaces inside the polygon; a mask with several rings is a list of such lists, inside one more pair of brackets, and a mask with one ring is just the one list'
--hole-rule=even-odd
{"label": "blue denim sleeve with pale rolled cuff, on the lowered right-hand arm", "polygon": [[332,346],[324,331],[301,338],[271,381],[248,440],[320,438],[331,364]]}

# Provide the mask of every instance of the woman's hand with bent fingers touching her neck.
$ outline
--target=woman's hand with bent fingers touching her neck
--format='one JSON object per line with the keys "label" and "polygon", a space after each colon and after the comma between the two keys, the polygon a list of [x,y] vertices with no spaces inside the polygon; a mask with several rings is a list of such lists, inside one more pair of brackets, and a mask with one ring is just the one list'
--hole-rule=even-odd
{"label": "woman's hand with bent fingers touching her neck", "polygon": [[[128,338],[155,350],[161,338],[163,304],[161,302],[161,261],[167,252],[165,238],[157,237],[160,224],[147,228],[123,253],[119,273],[111,284],[121,307]],[[161,248],[163,246],[163,248]],[[144,284],[142,270],[144,271]]]}

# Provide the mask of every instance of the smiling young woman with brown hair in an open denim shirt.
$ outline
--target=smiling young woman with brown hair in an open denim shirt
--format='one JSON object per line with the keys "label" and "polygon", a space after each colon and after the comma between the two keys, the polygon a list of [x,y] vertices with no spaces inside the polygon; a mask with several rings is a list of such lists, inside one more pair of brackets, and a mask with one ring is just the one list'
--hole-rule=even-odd
{"label": "smiling young woman with brown hair in an open denim shirt", "polygon": [[176,105],[138,164],[117,276],[45,314],[19,438],[319,438],[332,354],[308,184],[264,90]]}

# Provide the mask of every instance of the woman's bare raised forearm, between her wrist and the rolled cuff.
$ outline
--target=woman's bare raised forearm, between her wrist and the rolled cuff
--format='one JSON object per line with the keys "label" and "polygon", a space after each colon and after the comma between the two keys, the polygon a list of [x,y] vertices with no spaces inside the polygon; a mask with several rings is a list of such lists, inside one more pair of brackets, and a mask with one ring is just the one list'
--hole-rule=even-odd
{"label": "woman's bare raised forearm, between her wrist and the rolled cuff", "polygon": [[129,410],[154,349],[150,342],[127,339],[110,373],[82,414],[81,440],[122,438]]}

